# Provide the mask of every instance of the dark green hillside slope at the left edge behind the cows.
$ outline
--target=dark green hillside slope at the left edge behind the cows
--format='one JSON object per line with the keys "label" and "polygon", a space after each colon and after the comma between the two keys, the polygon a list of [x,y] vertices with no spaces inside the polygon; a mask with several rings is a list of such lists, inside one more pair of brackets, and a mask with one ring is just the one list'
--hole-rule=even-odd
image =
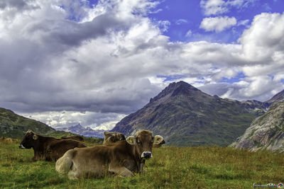
{"label": "dark green hillside slope at the left edge behind the cows", "polygon": [[38,134],[51,134],[55,130],[43,122],[24,118],[13,113],[12,110],[0,108],[0,136],[21,139],[27,130],[33,130]]}

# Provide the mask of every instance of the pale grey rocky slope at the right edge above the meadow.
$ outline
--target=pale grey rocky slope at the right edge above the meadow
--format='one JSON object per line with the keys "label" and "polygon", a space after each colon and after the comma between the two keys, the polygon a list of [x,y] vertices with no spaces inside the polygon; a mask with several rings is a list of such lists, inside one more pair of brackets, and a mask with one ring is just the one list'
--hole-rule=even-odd
{"label": "pale grey rocky slope at the right edge above the meadow", "polygon": [[284,102],[273,103],[267,113],[253,120],[231,147],[284,152]]}

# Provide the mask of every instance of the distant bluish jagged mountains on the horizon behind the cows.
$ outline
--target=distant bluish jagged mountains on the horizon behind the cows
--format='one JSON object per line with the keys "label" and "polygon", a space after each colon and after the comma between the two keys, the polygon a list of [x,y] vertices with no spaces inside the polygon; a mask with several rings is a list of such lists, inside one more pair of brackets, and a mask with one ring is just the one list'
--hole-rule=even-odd
{"label": "distant bluish jagged mountains on the horizon behind the cows", "polygon": [[83,127],[80,125],[72,126],[72,127],[65,127],[59,130],[63,130],[65,132],[72,132],[74,134],[80,134],[84,137],[95,137],[95,138],[103,138],[105,130],[92,130],[90,127]]}

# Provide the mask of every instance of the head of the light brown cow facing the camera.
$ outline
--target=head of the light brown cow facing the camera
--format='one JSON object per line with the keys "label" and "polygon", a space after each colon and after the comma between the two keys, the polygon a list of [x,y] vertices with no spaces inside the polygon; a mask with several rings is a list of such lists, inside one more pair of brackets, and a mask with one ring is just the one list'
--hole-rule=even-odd
{"label": "head of the light brown cow facing the camera", "polygon": [[135,145],[138,155],[142,159],[149,159],[152,155],[153,144],[160,144],[163,141],[163,137],[155,135],[153,137],[152,132],[148,130],[141,130],[136,132],[136,137],[127,137],[126,142]]}

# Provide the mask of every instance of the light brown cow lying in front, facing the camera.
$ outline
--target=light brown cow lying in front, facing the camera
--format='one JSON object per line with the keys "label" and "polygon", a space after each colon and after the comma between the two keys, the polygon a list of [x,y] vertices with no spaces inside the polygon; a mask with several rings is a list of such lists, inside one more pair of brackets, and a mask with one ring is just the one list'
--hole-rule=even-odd
{"label": "light brown cow lying in front, facing the camera", "polygon": [[162,141],[163,137],[153,137],[151,131],[142,130],[136,137],[114,144],[70,149],[56,161],[55,168],[70,179],[100,177],[105,173],[133,176],[133,173],[142,172],[145,160],[152,157],[153,144]]}

